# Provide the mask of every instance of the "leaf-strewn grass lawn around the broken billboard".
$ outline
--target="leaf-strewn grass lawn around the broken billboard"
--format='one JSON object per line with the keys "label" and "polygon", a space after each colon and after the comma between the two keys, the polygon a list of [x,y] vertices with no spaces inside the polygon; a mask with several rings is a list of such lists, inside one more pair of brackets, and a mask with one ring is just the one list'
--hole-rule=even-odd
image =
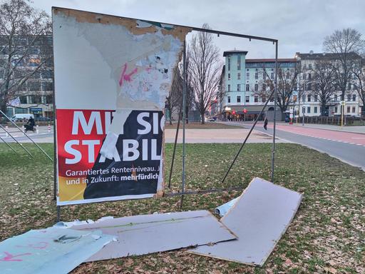
{"label": "leaf-strewn grass lawn around the broken billboard", "polygon": [[[15,145],[13,145],[15,147]],[[56,222],[53,164],[32,145],[30,159],[0,146],[0,240]],[[51,144],[42,144],[48,153]],[[187,144],[187,189],[247,186],[254,176],[270,178],[270,144],[245,146],[224,186],[220,181],[239,144]],[[166,170],[173,144],[166,145]],[[178,146],[178,155],[181,154]],[[83,263],[73,273],[364,273],[365,173],[326,154],[295,144],[277,144],[275,183],[304,193],[287,233],[263,268],[206,258],[184,250]],[[173,188],[180,190],[181,159]],[[168,171],[165,173],[168,178]],[[208,209],[239,192],[185,196],[183,210]],[[179,210],[179,198],[118,201],[63,207],[63,220],[96,219]]]}

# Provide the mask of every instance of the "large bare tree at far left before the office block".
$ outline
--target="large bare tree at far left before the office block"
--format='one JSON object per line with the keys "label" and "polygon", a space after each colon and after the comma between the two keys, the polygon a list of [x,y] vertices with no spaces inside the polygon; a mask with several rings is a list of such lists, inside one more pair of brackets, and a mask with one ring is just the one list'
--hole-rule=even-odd
{"label": "large bare tree at far left before the office block", "polygon": [[36,11],[26,0],[7,0],[0,5],[0,109],[19,87],[49,63],[51,54],[40,55],[39,41],[51,33],[45,11]]}

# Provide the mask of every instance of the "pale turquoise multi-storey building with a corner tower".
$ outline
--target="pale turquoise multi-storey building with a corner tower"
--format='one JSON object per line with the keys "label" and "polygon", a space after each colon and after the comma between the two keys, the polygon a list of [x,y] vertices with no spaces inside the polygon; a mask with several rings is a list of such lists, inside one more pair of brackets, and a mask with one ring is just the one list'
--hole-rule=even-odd
{"label": "pale turquoise multi-storey building with a corner tower", "polygon": [[[266,103],[274,83],[275,59],[246,59],[247,51],[225,51],[225,68],[220,80],[222,118],[253,120]],[[278,59],[287,75],[294,73],[296,59]],[[224,76],[224,77],[223,77]],[[264,111],[274,111],[271,98]],[[264,113],[262,117],[264,118]]]}

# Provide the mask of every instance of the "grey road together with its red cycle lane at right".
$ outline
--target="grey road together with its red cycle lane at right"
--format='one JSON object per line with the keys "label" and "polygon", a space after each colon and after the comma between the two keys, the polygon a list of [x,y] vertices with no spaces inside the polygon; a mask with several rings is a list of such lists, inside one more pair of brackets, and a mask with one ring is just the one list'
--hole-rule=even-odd
{"label": "grey road together with its red cycle lane at right", "polygon": [[[230,124],[245,126],[246,128],[252,126],[252,123],[230,122]],[[265,131],[263,123],[257,123],[255,130],[272,136],[272,127],[272,124],[269,124],[267,131]],[[349,163],[351,166],[362,168],[365,171],[364,133],[340,132],[278,123],[276,136],[285,141],[299,143],[302,146],[327,153],[329,156],[337,158],[344,163]]]}

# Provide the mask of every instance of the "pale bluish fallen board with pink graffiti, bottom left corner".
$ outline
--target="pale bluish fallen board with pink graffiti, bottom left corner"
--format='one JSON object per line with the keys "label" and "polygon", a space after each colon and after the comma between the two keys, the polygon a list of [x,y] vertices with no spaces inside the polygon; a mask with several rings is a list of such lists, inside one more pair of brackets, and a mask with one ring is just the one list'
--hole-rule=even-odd
{"label": "pale bluish fallen board with pink graffiti, bottom left corner", "polygon": [[30,230],[0,243],[0,272],[68,273],[113,238],[114,236],[103,235],[100,230]]}

